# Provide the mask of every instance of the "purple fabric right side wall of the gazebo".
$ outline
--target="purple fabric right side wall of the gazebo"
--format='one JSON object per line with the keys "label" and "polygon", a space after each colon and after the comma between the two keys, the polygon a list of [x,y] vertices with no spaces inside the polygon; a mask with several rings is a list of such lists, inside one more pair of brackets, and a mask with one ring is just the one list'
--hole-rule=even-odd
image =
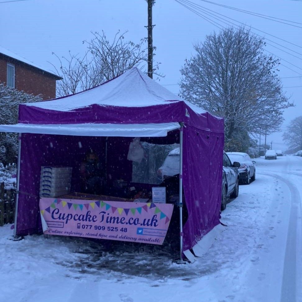
{"label": "purple fabric right side wall of the gazebo", "polygon": [[223,143],[221,133],[184,128],[183,187],[189,216],[184,250],[219,224]]}

